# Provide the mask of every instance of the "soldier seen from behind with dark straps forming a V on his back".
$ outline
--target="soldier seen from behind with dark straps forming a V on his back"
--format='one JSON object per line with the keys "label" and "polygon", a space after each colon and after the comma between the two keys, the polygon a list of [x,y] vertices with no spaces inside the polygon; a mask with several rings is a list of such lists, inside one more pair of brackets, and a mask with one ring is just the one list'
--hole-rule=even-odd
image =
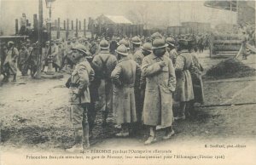
{"label": "soldier seen from behind with dark straps forming a V on his back", "polygon": [[107,123],[108,112],[112,110],[113,84],[111,82],[111,72],[117,64],[117,59],[113,54],[109,54],[108,41],[103,39],[100,42],[101,52],[92,60],[93,68],[96,71],[96,79],[104,84],[104,106],[102,108],[103,126]]}

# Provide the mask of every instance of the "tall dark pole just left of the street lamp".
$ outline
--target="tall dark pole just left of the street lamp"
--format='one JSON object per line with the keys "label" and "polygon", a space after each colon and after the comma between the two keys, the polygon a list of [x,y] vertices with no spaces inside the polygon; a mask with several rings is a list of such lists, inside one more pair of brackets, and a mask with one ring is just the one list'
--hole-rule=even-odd
{"label": "tall dark pole just left of the street lamp", "polygon": [[38,58],[37,58],[37,75],[36,78],[41,78],[41,63],[42,63],[42,28],[43,28],[43,0],[38,0]]}

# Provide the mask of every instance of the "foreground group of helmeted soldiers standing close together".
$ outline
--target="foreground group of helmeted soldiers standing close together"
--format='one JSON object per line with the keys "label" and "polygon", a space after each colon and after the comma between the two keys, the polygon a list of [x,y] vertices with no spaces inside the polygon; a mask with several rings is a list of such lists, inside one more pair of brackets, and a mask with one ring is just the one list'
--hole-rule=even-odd
{"label": "foreground group of helmeted soldiers standing close together", "polygon": [[[118,137],[127,137],[145,125],[149,131],[145,145],[156,141],[157,126],[166,131],[162,138],[170,139],[175,134],[174,120],[189,117],[195,102],[203,104],[203,69],[194,40],[163,37],[158,32],[147,39],[102,38],[96,40],[95,52],[91,43],[83,41],[71,42],[67,55],[67,68],[73,64],[66,86],[75,135],[69,151],[90,147],[100,86],[104,90],[102,124],[106,125],[111,111],[120,130]],[[177,117],[172,99],[180,104]]]}

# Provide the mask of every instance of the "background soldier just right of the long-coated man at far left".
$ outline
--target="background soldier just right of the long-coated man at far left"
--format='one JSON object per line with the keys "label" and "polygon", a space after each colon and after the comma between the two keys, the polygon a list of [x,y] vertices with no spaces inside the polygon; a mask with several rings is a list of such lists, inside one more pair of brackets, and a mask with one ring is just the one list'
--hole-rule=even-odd
{"label": "background soldier just right of the long-coated man at far left", "polygon": [[22,76],[27,75],[27,71],[28,71],[27,60],[28,60],[28,58],[29,58],[29,52],[26,48],[26,44],[22,43],[20,52],[19,52],[19,57],[18,57],[18,66],[19,66],[19,70],[21,71]]}

